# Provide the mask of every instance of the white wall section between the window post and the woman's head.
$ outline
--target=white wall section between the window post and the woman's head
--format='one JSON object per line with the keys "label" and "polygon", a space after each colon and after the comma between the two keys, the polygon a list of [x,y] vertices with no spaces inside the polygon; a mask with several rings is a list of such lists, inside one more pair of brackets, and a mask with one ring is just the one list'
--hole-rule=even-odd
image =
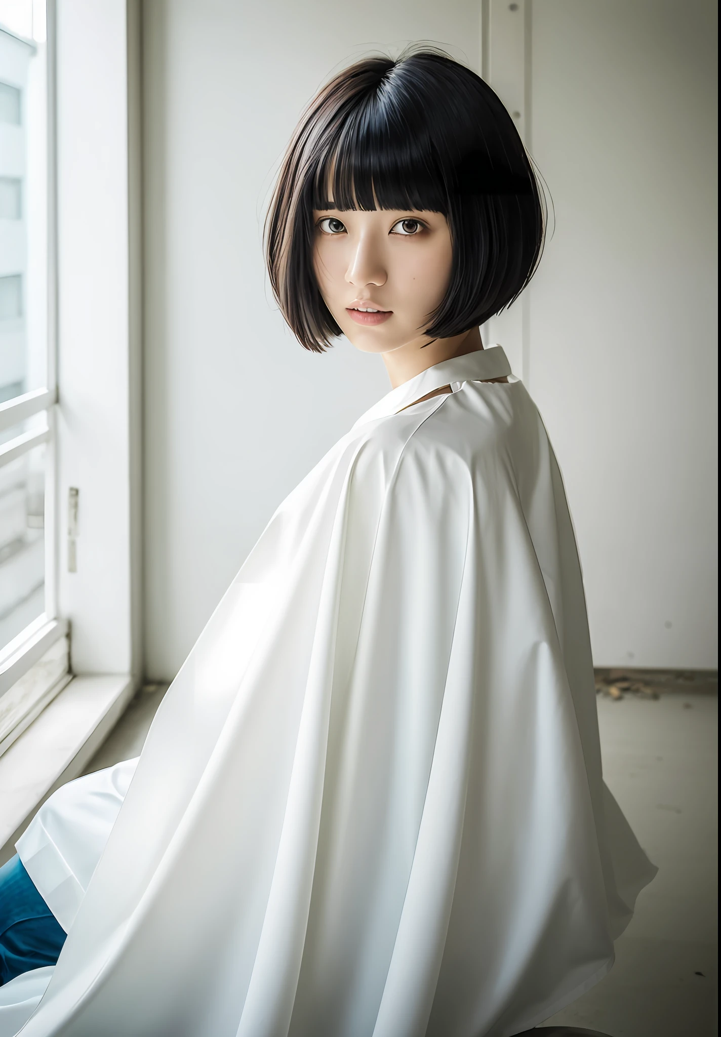
{"label": "white wall section between the window post and the woman's head", "polygon": [[[476,0],[144,5],[145,637],[172,676],[281,499],[390,388],[302,349],[266,289],[266,196],[336,66],[435,39],[478,66]],[[379,28],[382,27],[382,28]]]}

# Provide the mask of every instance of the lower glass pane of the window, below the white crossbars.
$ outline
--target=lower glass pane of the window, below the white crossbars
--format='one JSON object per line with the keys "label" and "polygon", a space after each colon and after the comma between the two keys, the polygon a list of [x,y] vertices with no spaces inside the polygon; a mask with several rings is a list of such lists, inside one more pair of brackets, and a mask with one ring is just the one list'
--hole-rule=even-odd
{"label": "lower glass pane of the window, below the white crossbars", "polygon": [[0,648],[45,612],[46,453],[41,444],[0,468]]}

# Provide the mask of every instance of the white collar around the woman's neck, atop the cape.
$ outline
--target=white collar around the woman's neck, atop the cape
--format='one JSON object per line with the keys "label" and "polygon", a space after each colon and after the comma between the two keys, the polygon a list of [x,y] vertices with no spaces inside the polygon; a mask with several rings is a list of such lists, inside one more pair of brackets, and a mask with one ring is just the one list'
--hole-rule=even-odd
{"label": "white collar around the woman's neck, atop the cape", "polygon": [[488,382],[490,379],[502,379],[510,373],[510,364],[500,345],[490,345],[487,349],[477,349],[462,357],[442,360],[440,364],[427,367],[396,389],[391,389],[383,399],[366,411],[353,427],[365,424],[366,421],[373,421],[376,418],[387,418],[391,414],[397,414],[405,407],[442,386],[456,383],[460,387],[464,382]]}

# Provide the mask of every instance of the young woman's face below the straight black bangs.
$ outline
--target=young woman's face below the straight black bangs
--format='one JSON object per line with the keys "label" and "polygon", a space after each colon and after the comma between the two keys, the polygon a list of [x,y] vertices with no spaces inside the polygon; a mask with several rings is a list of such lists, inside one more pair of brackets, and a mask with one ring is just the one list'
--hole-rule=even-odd
{"label": "young woman's face below the straight black bangs", "polygon": [[441,213],[316,209],[315,276],[326,306],[359,349],[389,353],[423,334],[450,279]]}

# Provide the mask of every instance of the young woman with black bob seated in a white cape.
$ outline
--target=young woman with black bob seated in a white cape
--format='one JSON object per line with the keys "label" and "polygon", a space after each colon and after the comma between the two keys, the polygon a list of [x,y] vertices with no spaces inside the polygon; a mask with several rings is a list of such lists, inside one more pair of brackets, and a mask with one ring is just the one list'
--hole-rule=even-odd
{"label": "young woman with black bob seated in a white cape", "polygon": [[27,1037],[508,1037],[610,968],[654,869],[602,780],[558,467],[478,331],[543,236],[512,120],[444,55],[311,103],[271,283],[302,345],[344,334],[393,389],[273,516],[137,769],[19,842],[70,930]]}

